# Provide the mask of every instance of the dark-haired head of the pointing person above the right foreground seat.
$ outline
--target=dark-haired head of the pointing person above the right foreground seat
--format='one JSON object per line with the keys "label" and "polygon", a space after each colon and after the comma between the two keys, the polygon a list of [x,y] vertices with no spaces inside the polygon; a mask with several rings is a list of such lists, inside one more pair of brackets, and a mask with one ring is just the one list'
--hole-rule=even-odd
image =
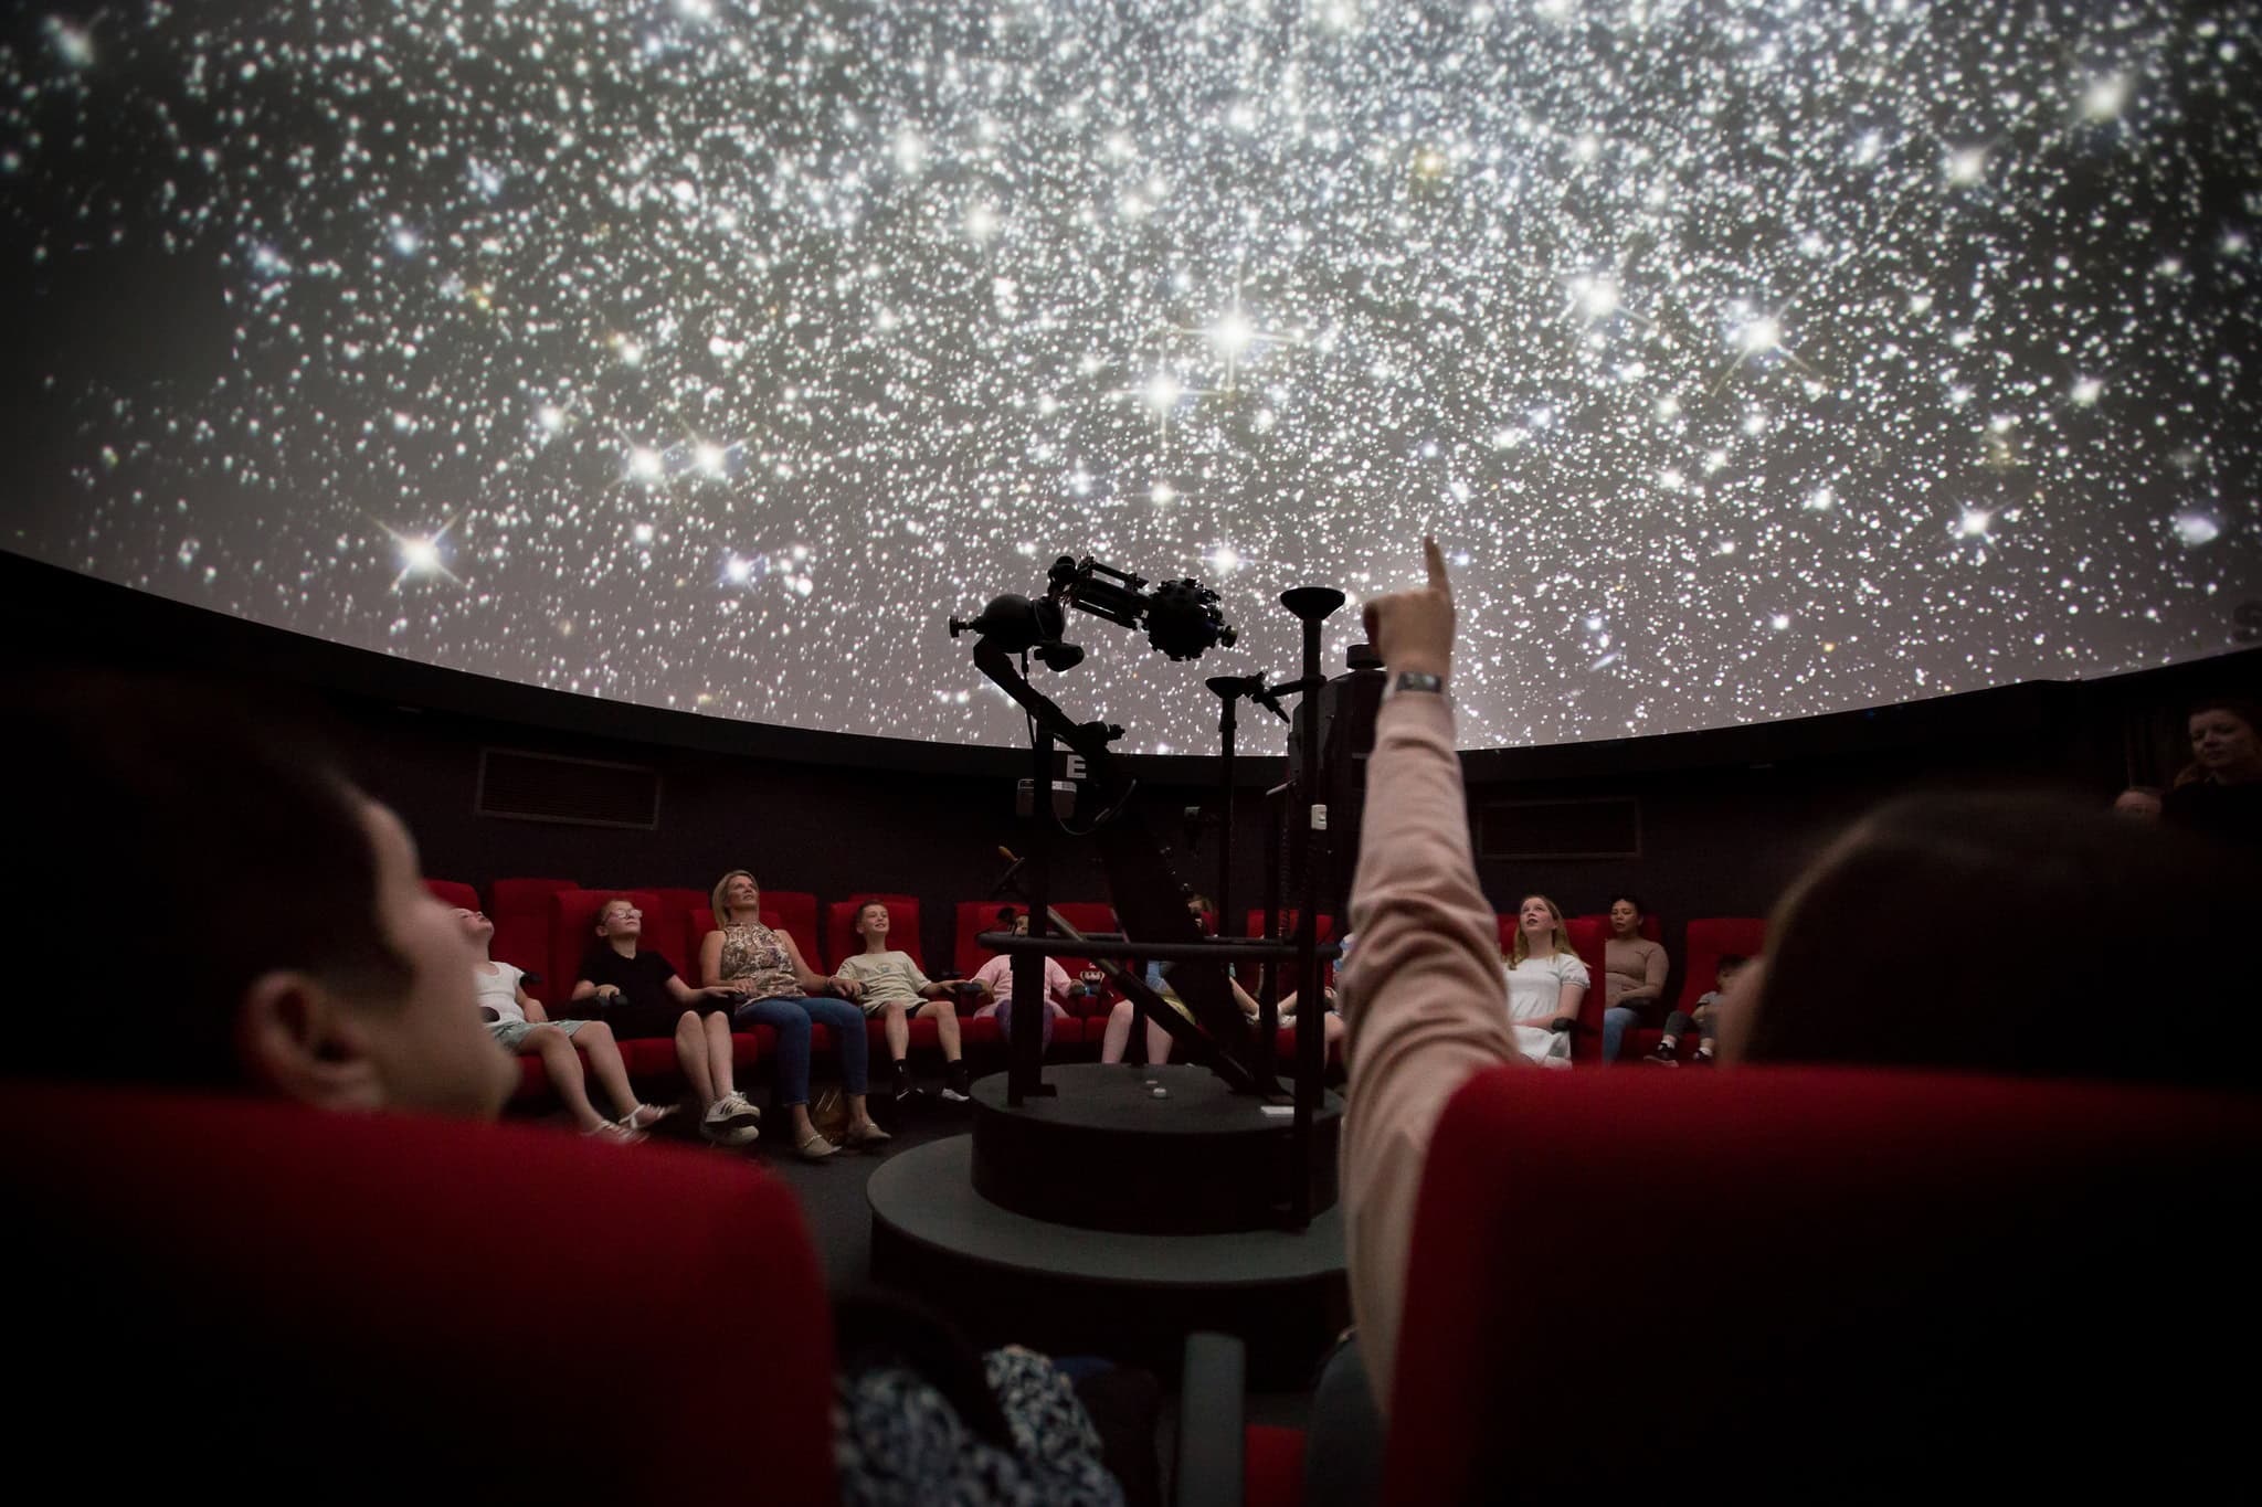
{"label": "dark-haired head of the pointing person above the right foreground seat", "polygon": [[[2129,906],[2142,942],[2101,944],[2099,913]],[[1911,987],[1909,938],[1968,915],[2020,917],[2015,967]],[[1785,892],[1726,990],[1721,1060],[2255,1087],[2255,1055],[2224,1044],[2262,990],[2210,965],[2255,933],[2262,879],[2235,850],[2054,795],[1909,795]]]}

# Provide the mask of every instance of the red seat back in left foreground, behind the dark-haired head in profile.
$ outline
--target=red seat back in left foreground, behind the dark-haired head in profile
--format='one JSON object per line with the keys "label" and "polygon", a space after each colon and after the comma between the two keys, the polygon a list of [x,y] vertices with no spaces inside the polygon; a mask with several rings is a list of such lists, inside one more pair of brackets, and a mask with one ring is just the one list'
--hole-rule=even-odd
{"label": "red seat back in left foreground, behind the dark-haired head in profile", "polygon": [[[11,1428],[104,1493],[837,1500],[823,1272],[792,1191],[740,1159],[233,1096],[0,1100],[0,1186],[38,1231],[9,1338],[41,1385]],[[167,1383],[127,1448],[93,1405],[120,1356]],[[746,1360],[726,1414],[717,1356]],[[507,1423],[541,1414],[563,1432]]]}

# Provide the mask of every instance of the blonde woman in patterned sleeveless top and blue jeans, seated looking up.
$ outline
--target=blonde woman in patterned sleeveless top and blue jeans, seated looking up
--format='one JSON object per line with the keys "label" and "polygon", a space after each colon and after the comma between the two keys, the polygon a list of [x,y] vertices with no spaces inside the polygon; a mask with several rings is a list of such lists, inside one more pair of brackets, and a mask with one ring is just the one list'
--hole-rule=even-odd
{"label": "blonde woman in patterned sleeveless top and blue jeans, seated looking up", "polygon": [[[737,994],[735,1026],[769,1026],[778,1035],[776,1094],[794,1121],[794,1150],[821,1161],[835,1146],[810,1121],[810,1026],[823,1023],[841,1055],[841,1087],[848,1094],[846,1146],[880,1146],[889,1139],[864,1100],[871,1039],[864,1012],[844,994],[855,985],[826,978],[801,958],[801,944],[762,924],[762,886],[742,868],[715,881],[708,895],[715,931],[699,942],[699,978]],[[823,992],[823,994],[821,994]],[[826,994],[832,994],[830,999]]]}

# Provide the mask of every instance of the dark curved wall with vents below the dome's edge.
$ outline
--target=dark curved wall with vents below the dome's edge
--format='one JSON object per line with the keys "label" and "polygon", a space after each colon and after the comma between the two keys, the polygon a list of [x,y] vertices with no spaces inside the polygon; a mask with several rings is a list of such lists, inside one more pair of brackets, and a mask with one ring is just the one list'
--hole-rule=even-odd
{"label": "dark curved wall with vents below the dome's edge", "polygon": [[[0,612],[32,669],[231,667],[258,694],[294,696],[330,723],[360,777],[394,804],[425,872],[470,883],[513,874],[590,886],[706,886],[746,865],[780,890],[841,899],[900,890],[927,901],[925,944],[948,956],[950,913],[998,877],[998,845],[1025,847],[1013,784],[1027,755],[649,712],[509,687],[238,624],[0,554]],[[1495,908],[1545,892],[1570,913],[1638,892],[1678,953],[1696,915],[1764,915],[1812,854],[1862,811],[1925,786],[2049,784],[2106,802],[2183,764],[2187,700],[2251,689],[2262,651],[2097,682],[2045,682],[1719,732],[1486,750],[1464,757],[1473,816],[1491,800],[1631,795],[1640,854],[1479,859]],[[480,750],[520,748],[661,770],[651,831],[473,813]],[[1215,800],[1206,759],[1131,759],[1129,820],[1185,850],[1183,809]],[[1260,897],[1260,791],[1280,759],[1242,761],[1240,906]],[[1219,834],[1179,872],[1215,888]],[[1056,845],[1054,899],[1106,895],[1088,843]],[[1975,926],[1986,917],[1970,917]],[[1676,981],[1678,985],[1678,981]]]}

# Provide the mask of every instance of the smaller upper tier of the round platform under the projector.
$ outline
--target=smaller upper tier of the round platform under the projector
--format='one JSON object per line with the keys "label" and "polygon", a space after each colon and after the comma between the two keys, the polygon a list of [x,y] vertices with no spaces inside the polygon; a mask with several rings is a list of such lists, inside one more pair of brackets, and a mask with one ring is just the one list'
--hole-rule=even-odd
{"label": "smaller upper tier of the round platform under the projector", "polygon": [[[1007,1075],[975,1096],[975,1191],[1034,1220],[1122,1234],[1278,1229],[1292,1188],[1289,1105],[1235,1094],[1201,1066],[1083,1062],[1056,1094],[1007,1107]],[[1312,1211],[1335,1207],[1344,1100],[1312,1116]]]}

